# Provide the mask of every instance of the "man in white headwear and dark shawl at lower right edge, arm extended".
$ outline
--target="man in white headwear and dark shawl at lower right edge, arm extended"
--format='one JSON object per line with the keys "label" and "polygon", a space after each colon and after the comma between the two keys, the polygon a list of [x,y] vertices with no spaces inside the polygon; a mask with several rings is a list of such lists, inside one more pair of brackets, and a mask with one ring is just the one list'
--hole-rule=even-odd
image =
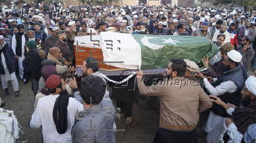
{"label": "man in white headwear and dark shawl at lower right edge, arm extended", "polygon": [[242,94],[244,94],[243,108],[235,108],[233,105],[226,104],[217,96],[210,96],[214,103],[221,105],[231,115],[231,118],[226,118],[225,121],[230,142],[241,142],[243,137],[246,141],[248,139],[246,138],[247,128],[256,123],[256,74],[245,80]]}

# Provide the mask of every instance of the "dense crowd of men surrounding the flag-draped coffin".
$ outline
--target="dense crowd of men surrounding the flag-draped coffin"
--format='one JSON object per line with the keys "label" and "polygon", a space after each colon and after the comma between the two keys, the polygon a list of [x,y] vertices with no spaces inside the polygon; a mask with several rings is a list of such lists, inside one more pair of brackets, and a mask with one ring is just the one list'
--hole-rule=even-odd
{"label": "dense crowd of men surrounding the flag-draped coffin", "polygon": [[[5,96],[11,81],[19,96],[18,79],[31,81],[35,96],[32,128],[42,127],[43,142],[116,142],[114,117],[133,120],[139,98],[160,100],[160,123],[153,142],[255,142],[256,139],[256,13],[233,9],[171,6],[23,5],[21,11],[0,13],[0,77]],[[79,10],[78,10],[79,9]],[[96,59],[75,68],[74,38],[100,32],[144,35],[203,36],[219,52],[196,63],[170,59],[162,83],[151,86],[137,71],[137,90],[107,83]],[[254,72],[248,77],[248,71]],[[201,79],[201,86],[195,86]],[[169,82],[168,82],[169,81]],[[146,85],[147,86],[146,86]],[[112,94],[109,88],[112,87]],[[142,96],[143,95],[143,96]],[[153,96],[157,97],[154,98]],[[121,108],[114,110],[112,100]],[[0,98],[1,106],[4,100]],[[109,116],[107,109],[112,109]],[[95,109],[97,113],[95,113]],[[77,111],[79,111],[77,115]],[[76,120],[76,117],[83,120]],[[93,121],[92,121],[93,118]],[[95,130],[93,130],[93,129]]]}

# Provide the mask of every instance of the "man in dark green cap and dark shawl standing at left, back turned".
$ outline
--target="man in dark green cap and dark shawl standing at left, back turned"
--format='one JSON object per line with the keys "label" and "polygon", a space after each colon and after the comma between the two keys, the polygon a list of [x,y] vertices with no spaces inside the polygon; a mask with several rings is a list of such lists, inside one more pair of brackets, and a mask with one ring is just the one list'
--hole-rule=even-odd
{"label": "man in dark green cap and dark shawl standing at left, back turned", "polygon": [[31,79],[31,86],[34,96],[38,91],[38,81],[41,75],[41,62],[43,58],[38,54],[38,47],[34,40],[30,40],[26,43],[29,51],[26,54],[25,59],[23,60],[23,67],[24,67],[24,77],[23,79],[28,80]]}

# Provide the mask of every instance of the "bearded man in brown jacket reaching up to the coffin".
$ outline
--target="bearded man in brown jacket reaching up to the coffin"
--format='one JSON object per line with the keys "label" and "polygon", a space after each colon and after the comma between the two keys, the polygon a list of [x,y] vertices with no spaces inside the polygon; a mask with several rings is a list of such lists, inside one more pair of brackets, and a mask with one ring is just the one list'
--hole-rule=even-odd
{"label": "bearded man in brown jacket reaching up to the coffin", "polygon": [[197,142],[199,113],[213,104],[200,86],[184,78],[186,70],[183,60],[171,59],[166,69],[171,79],[154,86],[145,86],[143,71],[137,71],[140,93],[160,97],[160,124],[153,142]]}

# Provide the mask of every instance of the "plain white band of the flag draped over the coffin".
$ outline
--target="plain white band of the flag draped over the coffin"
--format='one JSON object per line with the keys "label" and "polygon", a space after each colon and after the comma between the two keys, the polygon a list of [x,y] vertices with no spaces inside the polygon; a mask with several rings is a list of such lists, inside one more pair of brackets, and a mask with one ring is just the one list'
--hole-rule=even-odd
{"label": "plain white band of the flag draped over the coffin", "polygon": [[140,45],[131,34],[101,32],[100,37],[103,42],[103,60],[105,62],[124,62],[106,64],[125,69],[137,69],[139,65],[140,69],[142,65]]}

